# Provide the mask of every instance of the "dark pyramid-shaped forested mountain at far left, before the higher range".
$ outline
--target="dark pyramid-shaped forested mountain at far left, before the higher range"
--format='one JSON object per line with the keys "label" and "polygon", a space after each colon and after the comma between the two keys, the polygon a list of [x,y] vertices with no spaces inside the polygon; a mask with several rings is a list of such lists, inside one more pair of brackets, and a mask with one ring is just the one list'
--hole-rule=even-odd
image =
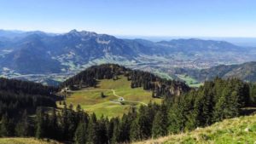
{"label": "dark pyramid-shaped forested mountain at far left, before the higher range", "polygon": [[20,49],[16,49],[0,61],[2,66],[20,70],[22,73],[61,72],[59,62],[51,59],[46,46],[38,36],[33,36],[26,43],[20,44]]}

